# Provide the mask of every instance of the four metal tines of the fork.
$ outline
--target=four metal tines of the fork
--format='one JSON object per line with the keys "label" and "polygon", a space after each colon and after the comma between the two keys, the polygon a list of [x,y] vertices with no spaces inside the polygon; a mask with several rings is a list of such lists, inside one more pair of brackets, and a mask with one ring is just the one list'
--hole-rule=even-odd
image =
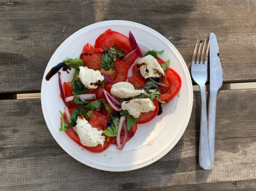
{"label": "four metal tines of the fork", "polygon": [[[193,63],[193,64],[199,63],[199,56],[200,56],[200,63],[199,64],[201,64],[201,63],[202,64],[205,64],[205,63],[207,64],[207,62],[208,62],[210,39],[208,40],[206,51],[205,51],[206,39],[205,39],[203,47],[201,49],[202,41],[203,41],[203,39],[201,39],[201,41],[199,43],[197,56],[196,56],[196,50],[197,50],[197,45],[198,45],[198,39],[196,41],[194,51],[193,51],[193,55],[192,55],[192,60],[191,60],[191,63]],[[200,55],[200,52],[201,52],[201,55]],[[205,55],[204,55],[204,52],[205,52]],[[205,59],[203,60],[204,57],[205,57]]]}

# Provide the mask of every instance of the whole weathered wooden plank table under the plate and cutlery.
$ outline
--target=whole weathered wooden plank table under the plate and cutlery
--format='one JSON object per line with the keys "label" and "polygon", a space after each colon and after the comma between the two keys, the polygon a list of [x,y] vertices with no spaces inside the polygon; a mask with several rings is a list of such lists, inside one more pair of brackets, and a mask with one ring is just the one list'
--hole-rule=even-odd
{"label": "whole weathered wooden plank table under the plate and cutlery", "polygon": [[[106,172],[69,156],[43,118],[46,65],[72,33],[104,20],[129,20],[164,35],[190,69],[197,38],[217,36],[223,83],[256,82],[256,1],[0,0],[0,190],[255,190],[256,89],[217,97],[215,164],[198,164],[200,95],[178,144],[153,164]],[[158,189],[156,189],[158,188]]]}

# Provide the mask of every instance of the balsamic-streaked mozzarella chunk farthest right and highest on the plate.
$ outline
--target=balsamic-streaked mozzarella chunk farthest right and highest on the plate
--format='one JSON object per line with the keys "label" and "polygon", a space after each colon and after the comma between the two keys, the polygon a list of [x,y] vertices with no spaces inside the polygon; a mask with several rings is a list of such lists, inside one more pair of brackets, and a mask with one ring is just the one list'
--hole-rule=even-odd
{"label": "balsamic-streaked mozzarella chunk farthest right and highest on the plate", "polygon": [[164,75],[164,71],[157,62],[157,59],[152,55],[140,58],[137,66],[140,68],[140,73],[145,79],[148,77],[162,77]]}

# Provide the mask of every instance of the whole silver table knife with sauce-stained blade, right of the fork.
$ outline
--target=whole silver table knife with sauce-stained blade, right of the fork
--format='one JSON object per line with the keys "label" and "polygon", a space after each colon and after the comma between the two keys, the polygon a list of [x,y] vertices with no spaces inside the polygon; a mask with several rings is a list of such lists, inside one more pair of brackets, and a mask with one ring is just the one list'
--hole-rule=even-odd
{"label": "whole silver table knife with sauce-stained blade, right of the fork", "polygon": [[208,95],[208,138],[211,166],[214,164],[214,142],[215,142],[215,119],[216,119],[216,102],[217,92],[222,86],[222,67],[219,58],[219,46],[214,33],[210,33],[210,92]]}

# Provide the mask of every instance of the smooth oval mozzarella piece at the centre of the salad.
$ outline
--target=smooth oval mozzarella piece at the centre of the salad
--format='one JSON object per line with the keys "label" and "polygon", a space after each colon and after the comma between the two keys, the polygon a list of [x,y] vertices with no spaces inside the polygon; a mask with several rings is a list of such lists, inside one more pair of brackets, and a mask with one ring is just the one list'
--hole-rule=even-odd
{"label": "smooth oval mozzarella piece at the centre of the salad", "polygon": [[134,86],[129,82],[115,83],[110,89],[110,93],[113,96],[120,97],[120,98],[134,97],[144,92],[145,92],[144,90],[135,89]]}

